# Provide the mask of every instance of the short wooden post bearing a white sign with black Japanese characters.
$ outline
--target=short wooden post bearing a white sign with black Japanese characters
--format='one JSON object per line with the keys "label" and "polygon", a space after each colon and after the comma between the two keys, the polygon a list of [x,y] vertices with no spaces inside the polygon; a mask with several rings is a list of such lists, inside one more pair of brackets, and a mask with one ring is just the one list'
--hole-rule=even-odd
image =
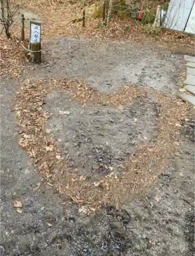
{"label": "short wooden post bearing a white sign with black Japanese characters", "polygon": [[40,23],[30,22],[30,51],[32,62],[41,62]]}

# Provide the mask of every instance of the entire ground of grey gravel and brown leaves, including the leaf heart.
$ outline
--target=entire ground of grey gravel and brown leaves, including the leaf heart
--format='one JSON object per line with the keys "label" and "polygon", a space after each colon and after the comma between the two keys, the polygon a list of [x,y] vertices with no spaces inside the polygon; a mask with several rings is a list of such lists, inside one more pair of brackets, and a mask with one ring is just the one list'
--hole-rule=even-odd
{"label": "entire ground of grey gravel and brown leaves, including the leaf heart", "polygon": [[57,33],[45,15],[40,65],[1,38],[1,255],[193,255],[191,37]]}

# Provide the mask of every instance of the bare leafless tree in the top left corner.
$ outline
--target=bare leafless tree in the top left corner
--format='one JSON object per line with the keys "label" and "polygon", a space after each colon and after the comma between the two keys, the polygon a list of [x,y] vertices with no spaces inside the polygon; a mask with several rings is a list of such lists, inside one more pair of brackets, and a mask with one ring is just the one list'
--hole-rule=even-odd
{"label": "bare leafless tree in the top left corner", "polygon": [[0,21],[3,25],[7,38],[10,38],[10,27],[14,22],[14,15],[19,5],[11,6],[10,0],[0,0]]}

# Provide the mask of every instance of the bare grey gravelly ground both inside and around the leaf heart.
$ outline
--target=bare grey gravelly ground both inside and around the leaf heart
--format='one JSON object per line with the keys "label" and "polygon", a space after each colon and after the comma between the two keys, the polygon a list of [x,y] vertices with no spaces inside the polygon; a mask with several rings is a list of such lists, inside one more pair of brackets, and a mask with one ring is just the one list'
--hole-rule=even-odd
{"label": "bare grey gravelly ground both inside and around the leaf heart", "polygon": [[[139,84],[143,90],[169,95],[171,101],[178,91],[184,56],[132,42],[60,37],[44,41],[43,60],[40,65],[25,63],[25,72],[18,78],[5,75],[1,81],[1,255],[193,255],[193,109],[180,120],[173,140],[179,145],[177,152],[165,159],[165,169],[158,167],[156,182],[141,194],[127,194],[119,207],[102,204],[89,215],[84,205],[55,193],[21,150],[18,120],[11,111],[21,86],[63,78],[79,78],[106,95]],[[118,108],[106,102],[83,105],[72,94],[77,91],[53,87],[43,108],[50,114],[44,129],[58,142],[68,167],[92,182],[111,173],[125,176],[121,163],[137,147],[149,146],[158,138],[162,108],[158,97],[129,96]],[[186,103],[179,103],[182,110]],[[63,184],[66,176],[59,177]],[[14,200],[23,203],[18,212]]]}

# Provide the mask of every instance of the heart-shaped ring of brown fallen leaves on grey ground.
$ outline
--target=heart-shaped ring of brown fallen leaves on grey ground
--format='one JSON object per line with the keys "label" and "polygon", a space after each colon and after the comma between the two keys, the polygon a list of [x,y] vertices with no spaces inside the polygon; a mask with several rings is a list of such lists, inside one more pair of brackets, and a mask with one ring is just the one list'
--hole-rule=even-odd
{"label": "heart-shaped ring of brown fallen leaves on grey ground", "polygon": [[[19,145],[27,151],[49,185],[60,194],[69,195],[69,198],[78,204],[89,204],[92,209],[96,209],[107,201],[118,204],[129,200],[130,195],[144,191],[158,179],[167,165],[168,157],[176,153],[179,145],[175,137],[179,133],[180,120],[187,112],[185,103],[153,90],[143,91],[139,87],[125,88],[108,95],[69,79],[50,80],[49,84],[50,86],[46,81],[41,81],[25,85],[17,94],[15,102],[20,130]],[[111,173],[92,183],[86,177],[78,176],[76,168],[71,169],[64,164],[63,155],[56,147],[51,131],[45,129],[50,115],[43,108],[44,97],[54,87],[69,90],[72,100],[83,103],[83,106],[106,103],[120,108],[138,95],[155,96],[161,104],[158,138],[152,145],[137,148],[136,153],[130,156],[127,162],[121,163],[124,173],[120,177]]]}

